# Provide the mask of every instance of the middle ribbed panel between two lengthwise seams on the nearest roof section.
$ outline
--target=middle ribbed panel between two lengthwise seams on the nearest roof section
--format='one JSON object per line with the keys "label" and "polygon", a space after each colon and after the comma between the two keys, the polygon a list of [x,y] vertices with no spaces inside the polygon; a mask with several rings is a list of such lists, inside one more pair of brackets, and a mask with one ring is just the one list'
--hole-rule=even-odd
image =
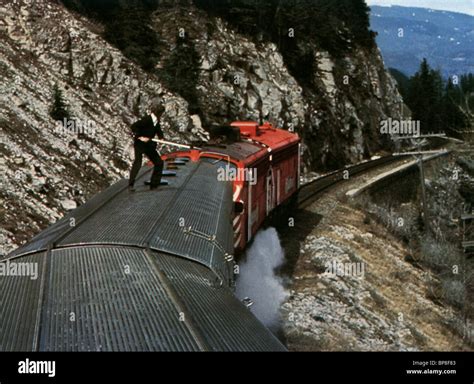
{"label": "middle ribbed panel between two lengthwise seams on the nearest roof section", "polygon": [[200,350],[145,251],[54,250],[41,351]]}

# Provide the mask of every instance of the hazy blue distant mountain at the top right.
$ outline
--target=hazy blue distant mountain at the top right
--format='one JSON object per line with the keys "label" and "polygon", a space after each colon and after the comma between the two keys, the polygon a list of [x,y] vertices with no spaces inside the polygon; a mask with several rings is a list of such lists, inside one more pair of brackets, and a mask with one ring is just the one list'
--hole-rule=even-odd
{"label": "hazy blue distant mountain at the top right", "polygon": [[[385,64],[406,75],[426,57],[444,77],[474,72],[474,16],[415,7],[371,6]],[[399,37],[399,29],[403,37]]]}

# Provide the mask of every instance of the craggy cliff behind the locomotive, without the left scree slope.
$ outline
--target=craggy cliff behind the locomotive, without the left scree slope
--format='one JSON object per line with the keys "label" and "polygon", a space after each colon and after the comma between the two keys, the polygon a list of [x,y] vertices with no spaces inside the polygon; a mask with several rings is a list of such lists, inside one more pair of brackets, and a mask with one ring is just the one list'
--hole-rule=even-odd
{"label": "craggy cliff behind the locomotive, without the left scree slope", "polygon": [[[163,44],[159,73],[169,75],[170,62],[179,65],[183,41],[200,58],[195,83],[187,86],[195,89],[205,124],[256,119],[294,129],[311,168],[338,168],[390,147],[380,120],[401,118],[403,101],[376,47],[334,55],[304,41],[306,61],[290,73],[288,53],[275,42],[238,33],[199,8],[158,7],[150,25]],[[295,73],[308,68],[306,81]]]}

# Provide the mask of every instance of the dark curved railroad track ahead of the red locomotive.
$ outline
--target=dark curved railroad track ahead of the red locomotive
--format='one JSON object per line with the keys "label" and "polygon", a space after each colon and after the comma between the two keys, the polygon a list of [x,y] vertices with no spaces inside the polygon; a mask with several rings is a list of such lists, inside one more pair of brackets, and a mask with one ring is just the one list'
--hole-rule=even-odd
{"label": "dark curved railroad track ahead of the red locomotive", "polygon": [[349,176],[354,176],[400,160],[406,156],[384,156],[375,160],[369,160],[363,163],[348,166],[344,169],[334,171],[328,175],[321,176],[303,185],[298,192],[298,207],[305,208],[310,205],[322,192],[345,180],[345,171],[349,172]]}

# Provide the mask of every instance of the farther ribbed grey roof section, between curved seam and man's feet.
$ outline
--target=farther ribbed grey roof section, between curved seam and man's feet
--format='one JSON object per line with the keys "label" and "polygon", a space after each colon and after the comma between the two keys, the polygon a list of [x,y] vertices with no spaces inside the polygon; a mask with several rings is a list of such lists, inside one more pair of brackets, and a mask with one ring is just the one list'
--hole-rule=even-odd
{"label": "farther ribbed grey roof section, between curved seam and man's feet", "polygon": [[[218,167],[186,163],[167,179],[168,186],[156,191],[143,183],[149,172],[141,173],[135,193],[128,192],[122,180],[12,255],[81,244],[150,247],[201,262],[227,282],[232,278],[224,261],[224,253],[233,252],[232,184],[217,181]],[[211,236],[216,236],[214,242],[206,239]]]}

